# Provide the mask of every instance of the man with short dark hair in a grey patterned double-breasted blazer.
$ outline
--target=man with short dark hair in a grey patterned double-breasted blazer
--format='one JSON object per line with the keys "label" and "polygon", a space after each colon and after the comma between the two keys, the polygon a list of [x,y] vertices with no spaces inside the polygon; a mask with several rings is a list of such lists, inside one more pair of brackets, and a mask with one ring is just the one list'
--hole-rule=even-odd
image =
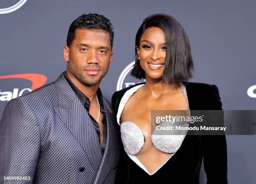
{"label": "man with short dark hair in a grey patterned double-breasted blazer", "polygon": [[67,72],[6,105],[0,122],[0,182],[114,183],[118,130],[99,88],[113,58],[113,36],[103,15],[78,17],[64,46]]}

